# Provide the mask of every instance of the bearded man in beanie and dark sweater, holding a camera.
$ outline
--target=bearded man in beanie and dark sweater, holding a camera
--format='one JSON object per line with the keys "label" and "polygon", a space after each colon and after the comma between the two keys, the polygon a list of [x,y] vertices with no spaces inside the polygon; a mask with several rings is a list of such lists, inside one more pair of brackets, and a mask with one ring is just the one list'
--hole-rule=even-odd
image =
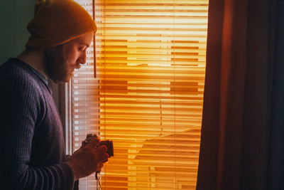
{"label": "bearded man in beanie and dark sweater, holding a camera", "polygon": [[65,159],[48,79],[67,82],[86,62],[96,26],[72,0],[38,1],[26,50],[0,66],[0,189],[68,190],[108,160],[99,138]]}

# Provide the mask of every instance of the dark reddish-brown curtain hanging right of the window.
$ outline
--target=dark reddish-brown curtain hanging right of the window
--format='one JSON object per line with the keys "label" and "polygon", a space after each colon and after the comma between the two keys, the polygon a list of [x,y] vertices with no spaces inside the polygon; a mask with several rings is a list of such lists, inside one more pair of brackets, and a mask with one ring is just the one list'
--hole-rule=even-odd
{"label": "dark reddish-brown curtain hanging right of the window", "polygon": [[209,0],[197,190],[284,189],[284,1]]}

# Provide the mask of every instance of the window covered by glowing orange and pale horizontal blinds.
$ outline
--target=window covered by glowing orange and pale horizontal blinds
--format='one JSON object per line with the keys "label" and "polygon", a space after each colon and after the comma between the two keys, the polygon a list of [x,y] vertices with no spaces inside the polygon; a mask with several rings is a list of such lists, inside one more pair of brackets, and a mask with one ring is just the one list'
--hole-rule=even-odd
{"label": "window covered by glowing orange and pale horizontal blinds", "polygon": [[77,1],[95,10],[97,78],[91,46],[69,85],[70,151],[113,140],[103,189],[195,189],[209,0]]}

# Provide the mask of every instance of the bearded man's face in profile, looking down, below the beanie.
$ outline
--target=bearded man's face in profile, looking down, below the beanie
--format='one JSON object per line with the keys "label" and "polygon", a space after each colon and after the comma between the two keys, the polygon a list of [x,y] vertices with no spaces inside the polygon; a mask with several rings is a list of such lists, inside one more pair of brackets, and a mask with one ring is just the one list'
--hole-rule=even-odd
{"label": "bearded man's face in profile, looking down, below the beanie", "polygon": [[55,83],[68,82],[75,68],[86,63],[86,51],[92,41],[93,33],[75,38],[60,46],[44,51],[46,73]]}

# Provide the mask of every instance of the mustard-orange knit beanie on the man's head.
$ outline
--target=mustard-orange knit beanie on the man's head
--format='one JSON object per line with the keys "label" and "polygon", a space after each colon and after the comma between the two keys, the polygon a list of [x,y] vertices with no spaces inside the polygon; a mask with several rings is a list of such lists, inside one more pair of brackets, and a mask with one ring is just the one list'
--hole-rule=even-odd
{"label": "mustard-orange knit beanie on the man's head", "polygon": [[95,32],[97,27],[92,16],[75,1],[38,0],[28,31],[31,37],[26,46],[44,49]]}

